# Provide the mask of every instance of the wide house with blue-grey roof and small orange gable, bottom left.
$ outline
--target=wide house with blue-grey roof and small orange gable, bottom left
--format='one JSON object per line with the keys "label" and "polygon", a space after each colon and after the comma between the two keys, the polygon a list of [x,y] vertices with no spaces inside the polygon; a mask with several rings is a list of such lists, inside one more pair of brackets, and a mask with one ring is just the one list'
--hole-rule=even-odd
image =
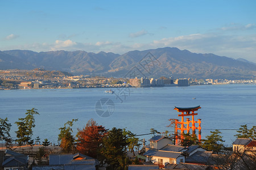
{"label": "wide house with blue-grey roof and small orange gable, bottom left", "polygon": [[80,153],[49,155],[49,165],[33,166],[33,170],[43,169],[86,169],[95,170],[100,163],[97,159]]}

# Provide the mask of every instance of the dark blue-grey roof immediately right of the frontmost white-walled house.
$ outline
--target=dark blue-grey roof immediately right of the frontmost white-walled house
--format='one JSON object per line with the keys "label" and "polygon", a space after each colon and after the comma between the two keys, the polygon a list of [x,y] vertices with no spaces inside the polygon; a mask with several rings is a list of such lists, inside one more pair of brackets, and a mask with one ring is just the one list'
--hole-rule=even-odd
{"label": "dark blue-grey roof immediately right of the frontmost white-walled house", "polygon": [[185,162],[189,163],[207,163],[212,151],[196,151],[195,154],[188,156]]}

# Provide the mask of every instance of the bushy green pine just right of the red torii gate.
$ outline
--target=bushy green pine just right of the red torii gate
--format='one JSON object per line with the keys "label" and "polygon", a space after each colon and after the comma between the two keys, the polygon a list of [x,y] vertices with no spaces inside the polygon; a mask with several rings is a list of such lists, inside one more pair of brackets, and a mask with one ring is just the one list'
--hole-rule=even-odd
{"label": "bushy green pine just right of the red torii gate", "polygon": [[210,131],[211,135],[207,136],[206,139],[203,139],[202,147],[208,151],[213,151],[215,154],[221,154],[224,150],[225,142],[222,140],[221,132],[219,130]]}

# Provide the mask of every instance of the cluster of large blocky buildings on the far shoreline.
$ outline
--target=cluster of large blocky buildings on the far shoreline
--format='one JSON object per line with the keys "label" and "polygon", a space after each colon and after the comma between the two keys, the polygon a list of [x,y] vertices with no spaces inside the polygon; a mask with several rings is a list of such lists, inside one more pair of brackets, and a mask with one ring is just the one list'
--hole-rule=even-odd
{"label": "cluster of large blocky buildings on the far shoreline", "polygon": [[130,79],[131,87],[163,87],[163,86],[189,86],[188,79],[148,79],[135,78]]}

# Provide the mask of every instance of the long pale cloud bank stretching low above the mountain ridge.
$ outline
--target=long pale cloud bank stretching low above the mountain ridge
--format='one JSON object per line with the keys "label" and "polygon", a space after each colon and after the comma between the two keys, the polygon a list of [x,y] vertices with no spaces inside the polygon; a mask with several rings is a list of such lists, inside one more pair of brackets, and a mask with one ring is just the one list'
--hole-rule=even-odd
{"label": "long pale cloud bank stretching low above the mountain ridge", "polygon": [[[248,27],[251,27],[251,25],[248,25]],[[112,41],[85,43],[75,42],[72,40],[56,40],[52,44],[35,43],[20,46],[9,46],[9,49],[28,49],[35,50],[37,52],[49,50],[85,50],[86,52],[94,53],[104,51],[123,54],[131,50],[155,49],[166,46],[177,47],[181,50],[187,49],[192,53],[213,53],[218,56],[245,58],[256,63],[256,34],[238,36],[236,34],[224,35],[223,32],[165,37],[151,42],[129,42],[128,44],[126,44],[126,42]]]}

